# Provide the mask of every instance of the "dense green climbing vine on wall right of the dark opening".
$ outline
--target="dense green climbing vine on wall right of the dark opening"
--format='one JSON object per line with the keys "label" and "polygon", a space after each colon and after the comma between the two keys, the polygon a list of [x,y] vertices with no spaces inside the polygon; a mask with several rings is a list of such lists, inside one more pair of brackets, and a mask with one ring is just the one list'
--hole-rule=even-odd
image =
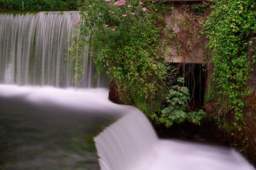
{"label": "dense green climbing vine on wall right of the dark opening", "polygon": [[[254,0],[211,1],[212,12],[205,22],[214,70],[212,94],[216,94],[218,108],[234,113],[234,127],[245,128],[243,109],[246,97],[252,92],[247,85],[250,79],[248,41],[256,33],[256,3]],[[250,50],[256,50],[255,46]],[[255,56],[254,56],[255,57]]]}

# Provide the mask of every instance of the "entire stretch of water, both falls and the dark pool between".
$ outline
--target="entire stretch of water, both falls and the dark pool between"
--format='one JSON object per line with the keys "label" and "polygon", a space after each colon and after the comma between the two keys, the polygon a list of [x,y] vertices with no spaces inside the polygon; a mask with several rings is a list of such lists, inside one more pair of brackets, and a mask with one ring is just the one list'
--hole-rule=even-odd
{"label": "entire stretch of water, both falls and the dark pool between", "polygon": [[88,52],[77,89],[68,57],[77,18],[0,15],[0,169],[254,169],[234,148],[157,138],[143,113],[108,100]]}

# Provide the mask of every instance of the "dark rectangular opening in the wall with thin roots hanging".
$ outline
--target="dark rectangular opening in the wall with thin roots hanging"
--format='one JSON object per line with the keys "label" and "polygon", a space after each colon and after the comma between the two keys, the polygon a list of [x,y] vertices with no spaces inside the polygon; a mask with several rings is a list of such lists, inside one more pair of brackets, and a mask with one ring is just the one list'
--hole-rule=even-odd
{"label": "dark rectangular opening in the wall with thin roots hanging", "polygon": [[207,76],[205,66],[195,63],[172,63],[171,67],[175,70],[175,74],[170,78],[173,85],[177,84],[177,78],[184,77],[184,86],[188,87],[190,94],[189,107],[202,108]]}

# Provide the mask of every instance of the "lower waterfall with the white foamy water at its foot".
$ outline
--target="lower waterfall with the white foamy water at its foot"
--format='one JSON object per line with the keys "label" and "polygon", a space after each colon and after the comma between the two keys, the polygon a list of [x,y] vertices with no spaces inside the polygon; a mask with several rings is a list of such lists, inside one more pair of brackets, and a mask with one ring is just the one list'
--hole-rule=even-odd
{"label": "lower waterfall with the white foamy water at its foot", "polygon": [[141,111],[125,115],[95,139],[101,170],[253,170],[234,148],[158,139]]}

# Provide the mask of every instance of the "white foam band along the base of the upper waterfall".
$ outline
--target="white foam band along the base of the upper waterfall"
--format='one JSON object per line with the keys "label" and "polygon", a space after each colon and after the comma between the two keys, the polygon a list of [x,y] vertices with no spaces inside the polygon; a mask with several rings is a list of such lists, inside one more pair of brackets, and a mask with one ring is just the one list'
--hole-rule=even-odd
{"label": "white foam band along the base of the upper waterfall", "polygon": [[[22,97],[34,104],[56,104],[74,110],[115,111],[122,108],[108,100],[107,89],[58,89],[55,87],[35,87],[0,85],[0,97]],[[121,112],[120,112],[121,114]]]}

